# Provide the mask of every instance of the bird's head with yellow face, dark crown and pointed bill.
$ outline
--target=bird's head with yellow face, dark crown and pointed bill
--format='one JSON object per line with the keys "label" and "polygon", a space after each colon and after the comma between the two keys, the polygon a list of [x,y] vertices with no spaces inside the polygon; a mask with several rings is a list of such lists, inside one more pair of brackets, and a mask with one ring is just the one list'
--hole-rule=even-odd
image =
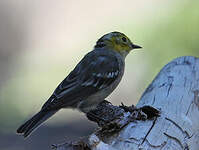
{"label": "bird's head with yellow face, dark crown and pointed bill", "polygon": [[96,43],[95,48],[107,48],[117,51],[123,56],[126,56],[131,50],[142,48],[135,45],[131,40],[123,33],[110,32],[102,36]]}

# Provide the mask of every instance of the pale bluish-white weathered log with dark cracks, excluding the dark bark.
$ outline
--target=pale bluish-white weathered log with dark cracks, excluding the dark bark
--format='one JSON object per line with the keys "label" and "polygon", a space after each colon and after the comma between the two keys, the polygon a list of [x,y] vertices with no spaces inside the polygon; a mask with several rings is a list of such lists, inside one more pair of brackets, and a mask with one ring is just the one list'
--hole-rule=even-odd
{"label": "pale bluish-white weathered log with dark cracks, excluding the dark bark", "polygon": [[185,56],[167,64],[143,93],[137,107],[143,106],[160,110],[160,116],[134,120],[109,136],[95,132],[89,149],[199,150],[199,59]]}

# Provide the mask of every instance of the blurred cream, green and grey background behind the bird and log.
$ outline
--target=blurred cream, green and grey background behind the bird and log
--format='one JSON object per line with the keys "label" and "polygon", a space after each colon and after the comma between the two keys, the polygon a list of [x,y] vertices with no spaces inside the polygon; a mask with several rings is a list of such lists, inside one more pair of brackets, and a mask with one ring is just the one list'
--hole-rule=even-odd
{"label": "blurred cream, green and grey background behind the bird and log", "polygon": [[62,110],[28,139],[15,134],[105,33],[124,32],[144,47],[127,57],[108,98],[131,105],[169,61],[199,56],[198,27],[196,0],[1,0],[0,149],[47,150],[94,130],[83,114]]}

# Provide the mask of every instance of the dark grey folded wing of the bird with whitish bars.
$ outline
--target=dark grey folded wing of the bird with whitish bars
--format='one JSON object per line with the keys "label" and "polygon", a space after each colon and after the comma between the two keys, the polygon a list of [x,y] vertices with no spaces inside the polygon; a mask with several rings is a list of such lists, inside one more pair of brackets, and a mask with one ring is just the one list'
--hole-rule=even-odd
{"label": "dark grey folded wing of the bird with whitish bars", "polygon": [[42,109],[75,106],[79,101],[113,83],[119,70],[115,56],[87,54],[59,84]]}

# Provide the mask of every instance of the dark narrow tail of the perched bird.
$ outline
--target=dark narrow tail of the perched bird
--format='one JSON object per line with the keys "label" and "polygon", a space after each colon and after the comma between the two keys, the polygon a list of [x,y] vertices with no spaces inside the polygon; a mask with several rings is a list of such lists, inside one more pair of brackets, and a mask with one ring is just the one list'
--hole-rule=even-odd
{"label": "dark narrow tail of the perched bird", "polygon": [[39,125],[41,125],[44,121],[54,115],[57,110],[53,111],[43,111],[41,110],[36,115],[34,115],[30,120],[26,121],[22,124],[18,129],[17,133],[22,134],[24,137],[29,136],[33,130],[35,130]]}

